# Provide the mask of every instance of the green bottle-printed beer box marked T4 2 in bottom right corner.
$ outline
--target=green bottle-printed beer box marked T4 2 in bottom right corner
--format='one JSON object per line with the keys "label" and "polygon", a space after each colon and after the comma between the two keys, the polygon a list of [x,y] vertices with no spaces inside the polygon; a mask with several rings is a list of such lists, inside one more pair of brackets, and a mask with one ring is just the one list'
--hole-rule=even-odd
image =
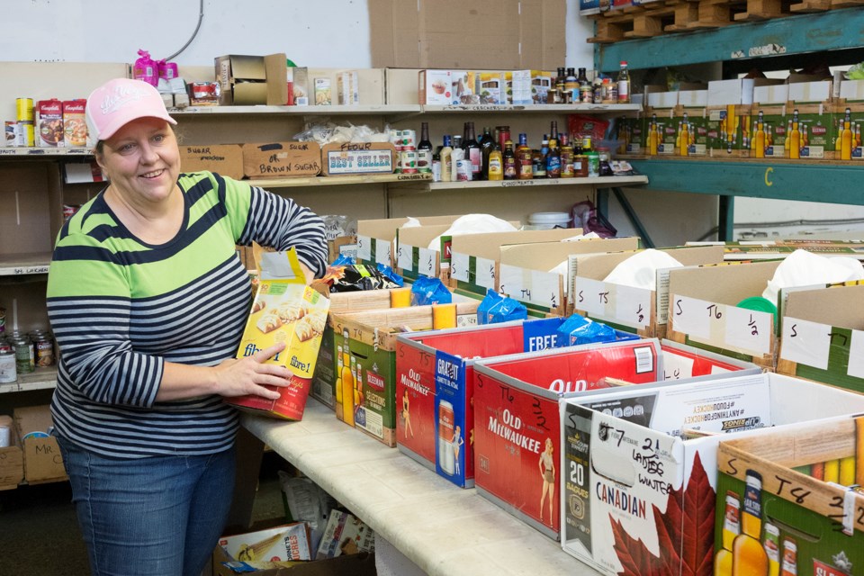
{"label": "green bottle-printed beer box marked T4 2 in bottom right corner", "polygon": [[[862,438],[859,417],[721,442],[715,565],[723,570],[736,561],[755,562],[767,565],[769,574],[858,574],[864,565]],[[749,552],[742,555],[744,549]]]}

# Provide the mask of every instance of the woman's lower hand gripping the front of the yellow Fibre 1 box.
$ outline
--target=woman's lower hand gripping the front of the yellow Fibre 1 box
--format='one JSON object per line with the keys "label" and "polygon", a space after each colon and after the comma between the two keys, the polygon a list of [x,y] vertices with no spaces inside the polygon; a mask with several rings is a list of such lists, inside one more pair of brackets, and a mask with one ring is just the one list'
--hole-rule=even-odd
{"label": "woman's lower hand gripping the front of the yellow Fibre 1 box", "polygon": [[215,366],[216,388],[220,396],[234,397],[248,394],[277,400],[278,391],[268,390],[266,385],[286,386],[291,379],[291,371],[281,365],[264,364],[285,349],[284,343],[275,344],[245,358],[231,358]]}

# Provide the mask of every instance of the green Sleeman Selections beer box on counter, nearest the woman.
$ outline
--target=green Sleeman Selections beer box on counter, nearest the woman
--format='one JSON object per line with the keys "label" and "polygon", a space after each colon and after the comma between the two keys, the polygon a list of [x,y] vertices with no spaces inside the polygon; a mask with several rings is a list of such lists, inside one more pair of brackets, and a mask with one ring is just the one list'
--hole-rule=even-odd
{"label": "green Sleeman Selections beer box on counter, nearest the woman", "polygon": [[[457,326],[477,322],[480,302],[411,306],[334,314],[329,319],[341,362],[337,359],[336,413],[347,425],[363,430],[387,446],[396,446],[396,337],[439,327],[455,314]],[[339,392],[341,391],[341,392]]]}

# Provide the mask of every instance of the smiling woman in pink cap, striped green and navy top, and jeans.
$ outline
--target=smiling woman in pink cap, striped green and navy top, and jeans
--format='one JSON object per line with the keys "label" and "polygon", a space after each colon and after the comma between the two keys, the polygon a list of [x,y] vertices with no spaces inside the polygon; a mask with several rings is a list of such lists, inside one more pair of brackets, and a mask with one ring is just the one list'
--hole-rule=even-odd
{"label": "smiling woman in pink cap, striped green and navy top, and jeans", "polygon": [[199,576],[226,521],[236,411],[289,372],[235,360],[251,304],[235,244],[296,247],[325,267],[323,224],[290,200],[181,174],[156,89],[116,79],[87,100],[110,184],[60,230],[48,311],[61,358],[51,410],[94,576]]}

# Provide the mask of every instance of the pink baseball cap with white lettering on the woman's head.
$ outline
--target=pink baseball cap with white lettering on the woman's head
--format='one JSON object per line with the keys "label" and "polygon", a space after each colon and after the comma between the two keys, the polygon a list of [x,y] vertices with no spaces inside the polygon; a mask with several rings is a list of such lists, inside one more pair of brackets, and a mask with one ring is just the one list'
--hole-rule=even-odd
{"label": "pink baseball cap with white lettering on the woman's head", "polygon": [[155,86],[129,78],[115,78],[96,88],[87,98],[86,118],[90,137],[96,141],[111,138],[139,118],[177,123],[168,115]]}

